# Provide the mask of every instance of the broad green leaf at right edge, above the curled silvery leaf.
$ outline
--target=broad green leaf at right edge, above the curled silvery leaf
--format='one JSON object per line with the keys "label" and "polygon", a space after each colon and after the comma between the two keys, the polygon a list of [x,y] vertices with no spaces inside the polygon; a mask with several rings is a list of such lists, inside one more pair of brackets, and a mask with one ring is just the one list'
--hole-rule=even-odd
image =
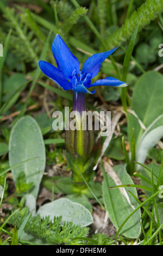
{"label": "broad green leaf at right edge, above the curled silvery leaf", "polygon": [[[131,109],[135,111],[139,119],[146,126],[163,113],[163,76],[155,71],[149,71],[142,75],[135,84]],[[144,130],[134,115],[129,114],[128,136],[131,145],[132,129],[135,131],[135,145],[140,142]]]}

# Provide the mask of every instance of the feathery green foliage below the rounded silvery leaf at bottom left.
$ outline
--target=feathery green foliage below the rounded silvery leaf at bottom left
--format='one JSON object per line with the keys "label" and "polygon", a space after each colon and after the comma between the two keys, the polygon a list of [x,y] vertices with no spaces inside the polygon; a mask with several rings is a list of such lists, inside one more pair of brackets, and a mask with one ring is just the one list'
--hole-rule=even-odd
{"label": "feathery green foliage below the rounded silvery leaf at bottom left", "polygon": [[[27,216],[22,216],[20,212],[13,215],[9,223],[20,228]],[[41,218],[40,215],[31,216],[24,228],[25,231],[33,233],[41,239],[45,239],[49,245],[81,245],[86,241],[74,239],[74,237],[86,237],[89,228],[74,225],[72,222],[61,223],[62,217],[54,217],[54,221],[49,220],[49,216]],[[73,240],[74,239],[74,240]]]}

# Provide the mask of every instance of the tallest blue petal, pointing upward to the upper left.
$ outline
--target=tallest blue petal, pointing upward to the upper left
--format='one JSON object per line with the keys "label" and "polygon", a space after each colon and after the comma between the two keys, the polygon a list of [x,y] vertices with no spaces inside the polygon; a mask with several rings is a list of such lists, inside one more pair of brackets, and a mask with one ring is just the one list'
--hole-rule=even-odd
{"label": "tallest blue petal, pointing upward to the upper left", "polygon": [[61,39],[60,35],[57,34],[52,44],[53,56],[57,62],[58,69],[60,69],[67,79],[72,75],[75,69],[79,74],[79,60],[73,56],[70,49],[65,44],[64,40]]}

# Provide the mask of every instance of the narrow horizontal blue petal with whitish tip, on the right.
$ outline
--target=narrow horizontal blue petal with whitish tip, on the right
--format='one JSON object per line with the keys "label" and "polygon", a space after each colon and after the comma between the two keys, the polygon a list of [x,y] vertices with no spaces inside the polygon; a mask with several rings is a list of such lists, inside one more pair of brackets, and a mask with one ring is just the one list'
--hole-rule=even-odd
{"label": "narrow horizontal blue petal with whitish tip, on the right", "polygon": [[87,88],[93,87],[93,86],[116,86],[116,87],[126,87],[127,83],[124,83],[114,77],[106,77],[101,80],[97,80],[95,83],[92,83],[87,85]]}

